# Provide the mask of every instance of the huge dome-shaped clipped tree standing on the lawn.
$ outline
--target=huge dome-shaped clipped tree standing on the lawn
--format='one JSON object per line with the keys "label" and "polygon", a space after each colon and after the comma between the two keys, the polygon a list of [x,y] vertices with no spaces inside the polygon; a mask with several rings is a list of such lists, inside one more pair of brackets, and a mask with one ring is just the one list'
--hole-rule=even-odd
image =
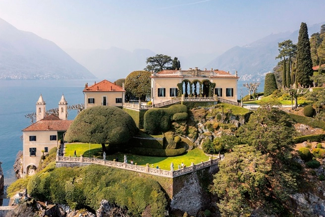
{"label": "huge dome-shaped clipped tree standing on the lawn", "polygon": [[118,145],[126,143],[138,132],[134,120],[122,109],[113,106],[94,106],[85,109],[74,119],[66,132],[68,142]]}

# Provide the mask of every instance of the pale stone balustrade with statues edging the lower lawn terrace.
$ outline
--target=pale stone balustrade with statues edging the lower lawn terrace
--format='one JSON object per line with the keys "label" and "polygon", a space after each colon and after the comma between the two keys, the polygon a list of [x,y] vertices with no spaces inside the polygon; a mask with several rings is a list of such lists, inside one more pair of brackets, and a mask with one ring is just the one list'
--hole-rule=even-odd
{"label": "pale stone balustrade with statues edging the lower lawn terrace", "polygon": [[163,169],[156,169],[156,168],[150,168],[149,164],[146,166],[138,166],[137,164],[129,164],[129,163],[123,163],[123,162],[116,162],[116,161],[110,161],[110,160],[104,160],[96,157],[71,157],[71,156],[56,156],[56,166],[59,163],[64,163],[68,166],[80,166],[80,165],[88,165],[88,164],[100,164],[120,169],[126,169],[131,170],[135,172],[142,172],[142,173],[148,173],[151,175],[157,175],[157,176],[164,176],[168,178],[175,178],[177,176],[181,176],[187,173],[191,173],[196,170],[200,170],[203,168],[210,167],[212,165],[218,164],[219,159],[209,159],[208,161],[201,162],[199,164],[194,164],[177,170],[163,170]]}

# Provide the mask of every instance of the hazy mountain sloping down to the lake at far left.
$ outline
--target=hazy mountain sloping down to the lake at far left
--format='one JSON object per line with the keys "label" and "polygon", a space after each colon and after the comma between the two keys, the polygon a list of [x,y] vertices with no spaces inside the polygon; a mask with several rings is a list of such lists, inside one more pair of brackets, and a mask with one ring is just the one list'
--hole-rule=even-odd
{"label": "hazy mountain sloping down to the lake at far left", "polygon": [[94,77],[52,41],[0,19],[0,79]]}

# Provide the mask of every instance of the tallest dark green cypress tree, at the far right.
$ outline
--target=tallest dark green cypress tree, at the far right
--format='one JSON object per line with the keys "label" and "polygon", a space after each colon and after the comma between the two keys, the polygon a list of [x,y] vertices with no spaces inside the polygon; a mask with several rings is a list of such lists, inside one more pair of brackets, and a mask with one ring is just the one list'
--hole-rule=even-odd
{"label": "tallest dark green cypress tree, at the far right", "polygon": [[310,76],[313,75],[313,62],[310,52],[310,42],[306,23],[301,23],[297,44],[297,72],[298,84],[307,86],[311,84]]}

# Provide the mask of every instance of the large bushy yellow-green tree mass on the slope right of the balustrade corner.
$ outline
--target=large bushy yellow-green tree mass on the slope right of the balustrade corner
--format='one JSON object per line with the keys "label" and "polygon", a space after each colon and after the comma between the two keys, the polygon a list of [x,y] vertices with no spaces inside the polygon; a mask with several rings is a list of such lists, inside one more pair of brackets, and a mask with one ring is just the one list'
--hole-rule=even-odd
{"label": "large bushy yellow-green tree mass on the slope right of the balustrade corner", "polygon": [[297,188],[296,163],[291,159],[294,127],[285,112],[261,106],[236,133],[241,144],[225,154],[212,191],[220,197],[222,217],[239,217],[262,209],[281,216]]}

